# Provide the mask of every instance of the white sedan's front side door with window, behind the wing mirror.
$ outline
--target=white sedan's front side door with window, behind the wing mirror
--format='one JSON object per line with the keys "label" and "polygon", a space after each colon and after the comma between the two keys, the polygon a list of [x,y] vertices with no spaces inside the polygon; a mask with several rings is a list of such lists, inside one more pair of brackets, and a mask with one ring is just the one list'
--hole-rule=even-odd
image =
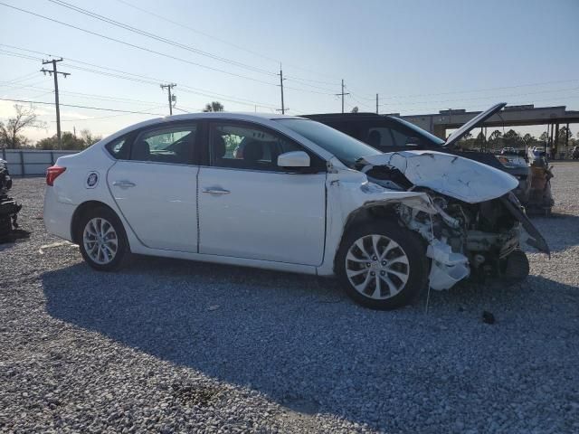
{"label": "white sedan's front side door with window, behind the wing mirror", "polygon": [[[212,121],[199,171],[199,252],[319,265],[324,255],[325,163],[289,172],[283,152],[305,150],[269,128]],[[242,149],[242,152],[240,152]]]}

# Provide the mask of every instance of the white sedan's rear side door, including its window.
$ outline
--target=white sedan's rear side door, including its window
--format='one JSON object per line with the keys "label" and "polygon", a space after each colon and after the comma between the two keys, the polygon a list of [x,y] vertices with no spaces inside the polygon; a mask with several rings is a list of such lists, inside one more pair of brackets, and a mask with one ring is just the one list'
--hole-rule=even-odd
{"label": "white sedan's rear side door, including its window", "polygon": [[140,131],[107,182],[139,241],[152,249],[197,251],[195,122]]}

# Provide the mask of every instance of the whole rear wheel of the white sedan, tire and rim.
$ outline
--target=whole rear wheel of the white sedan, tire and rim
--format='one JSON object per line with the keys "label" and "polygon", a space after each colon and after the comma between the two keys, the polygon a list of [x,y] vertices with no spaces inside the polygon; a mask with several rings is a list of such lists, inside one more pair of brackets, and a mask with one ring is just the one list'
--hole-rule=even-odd
{"label": "whole rear wheel of the white sedan, tire and rim", "polygon": [[100,271],[119,269],[130,253],[119,217],[105,207],[86,212],[78,226],[82,258]]}

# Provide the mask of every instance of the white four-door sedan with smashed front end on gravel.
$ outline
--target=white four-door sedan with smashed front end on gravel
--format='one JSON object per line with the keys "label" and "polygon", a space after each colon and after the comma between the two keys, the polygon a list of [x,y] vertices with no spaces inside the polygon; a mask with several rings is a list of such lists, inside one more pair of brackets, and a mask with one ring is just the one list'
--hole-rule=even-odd
{"label": "white four-door sedan with smashed front end on gravel", "polygon": [[381,154],[304,118],[149,120],[62,156],[46,182],[47,230],[94,269],[137,253],[337,275],[377,309],[470,274],[526,277],[520,222],[547,250],[512,176],[436,152]]}

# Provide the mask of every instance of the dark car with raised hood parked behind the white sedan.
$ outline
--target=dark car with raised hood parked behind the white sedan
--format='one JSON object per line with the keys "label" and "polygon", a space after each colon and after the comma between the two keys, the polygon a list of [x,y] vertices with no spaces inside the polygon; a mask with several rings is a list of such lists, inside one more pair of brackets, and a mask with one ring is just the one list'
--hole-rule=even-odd
{"label": "dark car with raised hood parked behind the white sedan", "polygon": [[461,150],[458,143],[473,128],[478,127],[486,119],[505,107],[507,103],[497,104],[482,112],[460,127],[447,140],[442,140],[425,131],[421,127],[416,127],[412,123],[391,115],[376,115],[375,113],[327,113],[318,115],[305,115],[322,122],[329,127],[336,128],[348,136],[378,149],[382,152],[397,152],[409,149],[415,150],[436,150],[455,156],[463,156],[470,160],[490,165],[513,175],[518,180],[514,193],[517,198],[525,203],[528,198],[530,185],[530,169],[527,165],[518,165],[499,159],[497,156],[487,153],[470,150]]}

